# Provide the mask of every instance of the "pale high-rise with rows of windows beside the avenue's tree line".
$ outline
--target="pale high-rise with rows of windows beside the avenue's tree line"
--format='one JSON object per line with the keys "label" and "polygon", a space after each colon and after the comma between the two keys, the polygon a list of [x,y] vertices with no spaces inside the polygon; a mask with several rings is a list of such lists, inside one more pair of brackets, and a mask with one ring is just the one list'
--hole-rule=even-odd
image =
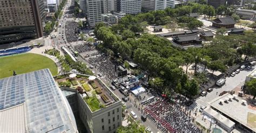
{"label": "pale high-rise with rows of windows beside the avenue's tree line", "polygon": [[102,1],[101,0],[86,0],[87,5],[87,20],[89,21],[90,27],[102,21]]}

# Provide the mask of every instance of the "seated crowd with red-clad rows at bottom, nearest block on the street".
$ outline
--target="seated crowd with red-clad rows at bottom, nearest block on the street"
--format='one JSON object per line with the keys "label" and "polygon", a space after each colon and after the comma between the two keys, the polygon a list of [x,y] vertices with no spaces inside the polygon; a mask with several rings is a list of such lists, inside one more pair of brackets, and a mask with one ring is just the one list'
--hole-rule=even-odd
{"label": "seated crowd with red-clad rows at bottom, nearest block on the street", "polygon": [[156,102],[148,103],[144,113],[164,132],[200,132],[183,109],[165,99],[157,98]]}

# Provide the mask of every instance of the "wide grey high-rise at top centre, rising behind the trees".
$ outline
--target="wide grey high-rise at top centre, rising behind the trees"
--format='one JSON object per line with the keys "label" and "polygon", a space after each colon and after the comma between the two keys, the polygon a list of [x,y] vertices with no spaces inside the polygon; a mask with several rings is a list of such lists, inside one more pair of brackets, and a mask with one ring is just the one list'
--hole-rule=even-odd
{"label": "wide grey high-rise at top centre, rising behind the trees", "polygon": [[116,11],[126,14],[138,14],[142,11],[141,0],[117,0]]}

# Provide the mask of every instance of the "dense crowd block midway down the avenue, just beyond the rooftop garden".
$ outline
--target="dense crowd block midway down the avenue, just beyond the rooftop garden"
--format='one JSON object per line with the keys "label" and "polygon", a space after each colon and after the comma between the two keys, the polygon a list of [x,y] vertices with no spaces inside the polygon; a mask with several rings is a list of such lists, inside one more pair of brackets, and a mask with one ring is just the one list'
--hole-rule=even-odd
{"label": "dense crowd block midway down the avenue, just beyond the rooftop garden", "polygon": [[111,62],[110,57],[104,54],[92,56],[86,59],[94,67],[106,76],[107,80],[114,80],[117,78],[117,72],[114,68],[114,63]]}

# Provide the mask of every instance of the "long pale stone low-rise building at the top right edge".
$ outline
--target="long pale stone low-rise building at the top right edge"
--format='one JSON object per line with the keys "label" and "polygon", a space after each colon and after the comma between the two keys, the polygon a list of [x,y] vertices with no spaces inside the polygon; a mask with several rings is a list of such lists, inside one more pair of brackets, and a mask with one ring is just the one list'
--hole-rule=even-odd
{"label": "long pale stone low-rise building at the top right edge", "polygon": [[255,10],[237,9],[237,10],[235,10],[235,14],[240,16],[240,18],[245,18],[248,20],[253,20],[254,18],[256,18]]}

